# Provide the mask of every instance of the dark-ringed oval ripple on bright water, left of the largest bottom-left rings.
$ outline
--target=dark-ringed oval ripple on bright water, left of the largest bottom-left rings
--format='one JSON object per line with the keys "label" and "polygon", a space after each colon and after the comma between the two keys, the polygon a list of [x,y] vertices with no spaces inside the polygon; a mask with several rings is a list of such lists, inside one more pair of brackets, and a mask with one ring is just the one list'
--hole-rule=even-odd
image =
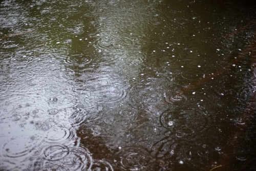
{"label": "dark-ringed oval ripple on bright water, left of the largest bottom-left rings", "polygon": [[59,161],[69,154],[69,147],[66,145],[53,145],[45,149],[42,159],[48,161]]}

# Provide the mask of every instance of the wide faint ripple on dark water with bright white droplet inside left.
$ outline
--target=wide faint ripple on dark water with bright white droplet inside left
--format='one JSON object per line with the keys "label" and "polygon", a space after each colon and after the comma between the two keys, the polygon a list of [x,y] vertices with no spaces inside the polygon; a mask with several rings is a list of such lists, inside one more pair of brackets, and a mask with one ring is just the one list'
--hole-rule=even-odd
{"label": "wide faint ripple on dark water with bright white droplet inside left", "polygon": [[188,134],[202,131],[207,125],[205,115],[199,110],[166,111],[160,115],[159,122],[166,129]]}

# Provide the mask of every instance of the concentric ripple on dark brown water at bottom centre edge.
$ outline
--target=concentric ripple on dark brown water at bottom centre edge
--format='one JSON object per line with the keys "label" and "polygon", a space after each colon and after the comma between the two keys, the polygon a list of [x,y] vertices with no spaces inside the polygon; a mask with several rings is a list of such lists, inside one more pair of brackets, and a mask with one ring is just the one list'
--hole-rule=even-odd
{"label": "concentric ripple on dark brown water at bottom centre edge", "polygon": [[119,167],[124,170],[142,170],[152,165],[153,158],[147,149],[137,146],[123,147],[115,154]]}

